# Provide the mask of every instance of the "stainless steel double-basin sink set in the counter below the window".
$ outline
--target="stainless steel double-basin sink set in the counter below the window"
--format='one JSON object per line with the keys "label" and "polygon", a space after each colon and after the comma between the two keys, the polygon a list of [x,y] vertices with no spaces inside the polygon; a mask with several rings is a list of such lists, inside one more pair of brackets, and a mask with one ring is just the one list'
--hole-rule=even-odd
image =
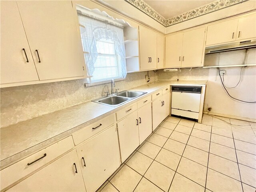
{"label": "stainless steel double-basin sink set in the counter below the window", "polygon": [[98,98],[98,99],[92,100],[92,102],[116,107],[116,106],[124,104],[125,102],[128,102],[132,99],[135,99],[139,96],[142,96],[146,93],[147,92],[142,92],[142,91],[122,91],[113,96],[108,96],[108,97],[105,96],[103,98]]}

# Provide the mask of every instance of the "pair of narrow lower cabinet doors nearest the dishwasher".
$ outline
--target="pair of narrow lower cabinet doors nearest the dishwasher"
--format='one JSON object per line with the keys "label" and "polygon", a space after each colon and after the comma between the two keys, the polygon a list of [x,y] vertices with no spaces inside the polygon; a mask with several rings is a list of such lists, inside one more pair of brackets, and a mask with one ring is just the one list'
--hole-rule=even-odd
{"label": "pair of narrow lower cabinet doors nearest the dishwasher", "polygon": [[170,92],[152,102],[153,131],[170,114]]}

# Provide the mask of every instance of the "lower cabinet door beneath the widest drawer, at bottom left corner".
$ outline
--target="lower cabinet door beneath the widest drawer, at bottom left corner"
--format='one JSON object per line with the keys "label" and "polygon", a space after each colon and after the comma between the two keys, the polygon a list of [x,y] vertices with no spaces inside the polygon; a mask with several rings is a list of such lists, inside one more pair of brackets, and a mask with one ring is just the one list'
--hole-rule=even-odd
{"label": "lower cabinet door beneath the widest drawer, at bottom left corner", "polygon": [[52,162],[7,191],[86,191],[76,150]]}

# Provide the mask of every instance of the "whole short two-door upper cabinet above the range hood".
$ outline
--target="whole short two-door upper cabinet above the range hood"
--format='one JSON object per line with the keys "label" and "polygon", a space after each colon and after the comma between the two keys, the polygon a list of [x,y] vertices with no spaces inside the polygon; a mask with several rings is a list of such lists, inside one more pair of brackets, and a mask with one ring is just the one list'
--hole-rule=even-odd
{"label": "whole short two-door upper cabinet above the range hood", "polygon": [[256,14],[248,14],[208,26],[206,46],[256,37]]}

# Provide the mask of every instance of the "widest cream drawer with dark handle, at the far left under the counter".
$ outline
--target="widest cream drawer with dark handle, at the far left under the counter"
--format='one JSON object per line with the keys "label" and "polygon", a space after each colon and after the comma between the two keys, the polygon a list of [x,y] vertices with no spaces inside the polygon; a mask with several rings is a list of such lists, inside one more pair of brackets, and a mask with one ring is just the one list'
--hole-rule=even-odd
{"label": "widest cream drawer with dark handle, at the far left under the counter", "polygon": [[[54,160],[58,156],[64,154],[73,147],[74,143],[72,136],[69,136],[1,170],[1,191],[14,182],[34,172],[38,168],[44,166],[48,162]],[[30,165],[28,165],[29,163]]]}

